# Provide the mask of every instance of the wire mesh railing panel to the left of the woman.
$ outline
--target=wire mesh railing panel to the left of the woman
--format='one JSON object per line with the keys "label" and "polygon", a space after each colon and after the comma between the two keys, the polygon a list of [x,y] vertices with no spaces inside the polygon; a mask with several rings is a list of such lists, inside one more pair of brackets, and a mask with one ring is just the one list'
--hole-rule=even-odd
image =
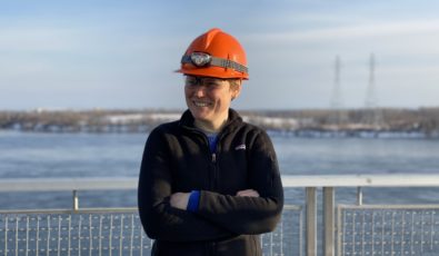
{"label": "wire mesh railing panel to the left of the woman", "polygon": [[134,210],[2,214],[0,255],[147,255]]}

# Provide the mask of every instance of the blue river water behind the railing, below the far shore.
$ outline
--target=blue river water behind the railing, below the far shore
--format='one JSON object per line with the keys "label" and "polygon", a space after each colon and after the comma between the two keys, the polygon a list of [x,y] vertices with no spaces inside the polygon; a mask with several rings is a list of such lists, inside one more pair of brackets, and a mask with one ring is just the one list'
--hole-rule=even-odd
{"label": "blue river water behind the railing, below the far shore", "polygon": [[[0,178],[137,177],[144,134],[0,132]],[[285,175],[437,174],[439,140],[297,138],[271,135]],[[355,199],[355,189],[339,189],[341,200]],[[439,198],[437,188],[366,189],[365,203]],[[136,206],[133,191],[81,193],[81,206]],[[399,195],[399,196],[396,196]],[[80,195],[81,196],[81,195]],[[392,197],[395,197],[391,199]],[[302,199],[302,190],[287,190],[287,200]],[[70,207],[68,193],[0,195],[0,208]]]}

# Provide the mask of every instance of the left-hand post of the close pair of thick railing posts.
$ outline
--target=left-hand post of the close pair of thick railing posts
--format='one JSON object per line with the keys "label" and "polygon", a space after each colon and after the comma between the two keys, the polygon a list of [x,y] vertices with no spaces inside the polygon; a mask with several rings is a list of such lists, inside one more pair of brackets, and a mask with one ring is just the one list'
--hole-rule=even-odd
{"label": "left-hand post of the close pair of thick railing posts", "polygon": [[306,188],[306,255],[317,255],[317,194],[316,187]]}

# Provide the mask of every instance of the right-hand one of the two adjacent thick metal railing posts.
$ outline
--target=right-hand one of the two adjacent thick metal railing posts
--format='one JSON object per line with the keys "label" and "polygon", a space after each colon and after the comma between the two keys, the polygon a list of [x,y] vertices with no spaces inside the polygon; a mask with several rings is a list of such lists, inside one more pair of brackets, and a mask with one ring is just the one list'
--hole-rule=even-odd
{"label": "right-hand one of the two adjacent thick metal railing posts", "polygon": [[333,187],[323,187],[323,255],[335,256],[336,208]]}

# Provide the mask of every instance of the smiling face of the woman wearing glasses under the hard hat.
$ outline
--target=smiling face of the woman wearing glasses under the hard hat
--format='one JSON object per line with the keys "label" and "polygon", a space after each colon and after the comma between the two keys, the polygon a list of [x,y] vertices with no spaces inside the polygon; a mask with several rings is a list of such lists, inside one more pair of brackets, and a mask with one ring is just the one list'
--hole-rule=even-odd
{"label": "smiling face of the woman wearing glasses under the hard hat", "polygon": [[186,77],[186,104],[198,121],[222,122],[228,117],[231,100],[238,97],[239,92],[240,86],[231,89],[230,81],[226,79]]}

